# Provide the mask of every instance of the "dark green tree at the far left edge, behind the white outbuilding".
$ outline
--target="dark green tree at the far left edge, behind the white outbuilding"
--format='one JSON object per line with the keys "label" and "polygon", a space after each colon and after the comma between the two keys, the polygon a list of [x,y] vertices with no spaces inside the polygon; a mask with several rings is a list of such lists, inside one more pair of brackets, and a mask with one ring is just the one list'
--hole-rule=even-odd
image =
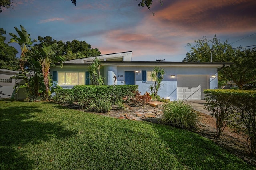
{"label": "dark green tree at the far left edge, behind the white outbuilding", "polygon": [[6,31],[0,28],[0,68],[16,71],[19,65],[19,59],[16,58],[18,51],[4,42],[6,38],[3,34],[6,34]]}

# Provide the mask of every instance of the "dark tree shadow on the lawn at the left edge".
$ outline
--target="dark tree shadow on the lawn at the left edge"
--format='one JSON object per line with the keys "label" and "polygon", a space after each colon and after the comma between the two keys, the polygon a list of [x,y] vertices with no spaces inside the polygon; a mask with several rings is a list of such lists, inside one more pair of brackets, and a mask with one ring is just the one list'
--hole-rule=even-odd
{"label": "dark tree shadow on the lawn at the left edge", "polygon": [[61,122],[37,121],[41,109],[32,106],[8,107],[1,109],[0,116],[0,169],[32,169],[35,162],[27,158],[26,144],[38,144],[51,138],[66,138],[75,134],[65,130]]}

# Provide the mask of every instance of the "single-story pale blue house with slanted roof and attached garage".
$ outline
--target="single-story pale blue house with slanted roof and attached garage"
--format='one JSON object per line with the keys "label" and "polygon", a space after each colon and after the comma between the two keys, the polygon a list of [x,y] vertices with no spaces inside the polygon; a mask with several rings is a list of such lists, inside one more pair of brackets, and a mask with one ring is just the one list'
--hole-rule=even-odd
{"label": "single-story pale blue house with slanted roof and attached garage", "polygon": [[[218,89],[218,68],[231,63],[193,63],[164,61],[132,61],[132,51],[99,55],[100,73],[105,85],[138,85],[141,94],[150,92],[153,83],[150,74],[155,66],[165,70],[158,95],[165,99],[201,100],[204,89]],[[54,81],[63,88],[89,85],[88,66],[95,57],[74,59],[64,62],[64,67],[50,68]],[[115,77],[116,76],[116,83]]]}

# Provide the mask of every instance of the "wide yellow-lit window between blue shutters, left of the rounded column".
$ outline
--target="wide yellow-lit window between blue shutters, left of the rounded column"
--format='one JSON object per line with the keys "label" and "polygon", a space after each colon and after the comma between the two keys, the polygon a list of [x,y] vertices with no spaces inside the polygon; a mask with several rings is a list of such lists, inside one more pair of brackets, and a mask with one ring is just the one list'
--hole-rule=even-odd
{"label": "wide yellow-lit window between blue shutters, left of the rounded column", "polygon": [[58,83],[59,85],[84,85],[85,73],[84,72],[59,72]]}

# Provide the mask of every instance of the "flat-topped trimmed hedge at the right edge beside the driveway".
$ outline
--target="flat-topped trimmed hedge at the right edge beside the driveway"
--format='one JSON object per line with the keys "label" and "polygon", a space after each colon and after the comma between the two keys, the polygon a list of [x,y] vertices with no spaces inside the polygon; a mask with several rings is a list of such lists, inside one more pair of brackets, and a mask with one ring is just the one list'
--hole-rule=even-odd
{"label": "flat-topped trimmed hedge at the right edge beside the driveway", "polygon": [[[212,109],[210,111],[217,112],[217,109],[221,109],[225,114],[234,111],[234,126],[238,132],[243,132],[249,137],[249,151],[256,157],[256,91],[204,90],[204,93],[207,108]],[[222,105],[223,103],[225,105]]]}

